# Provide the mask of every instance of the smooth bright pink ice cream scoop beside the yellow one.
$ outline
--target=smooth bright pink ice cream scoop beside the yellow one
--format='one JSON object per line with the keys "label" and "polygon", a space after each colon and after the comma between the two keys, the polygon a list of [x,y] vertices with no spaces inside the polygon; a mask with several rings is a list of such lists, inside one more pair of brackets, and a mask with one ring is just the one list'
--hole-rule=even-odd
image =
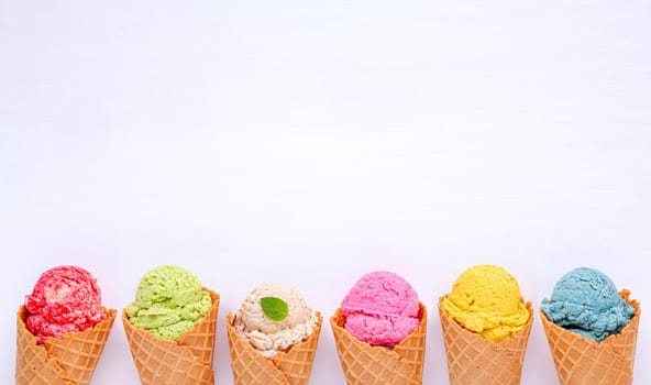
{"label": "smooth bright pink ice cream scoop beside the yellow one", "polygon": [[341,304],[345,330],[372,345],[395,346],[419,323],[419,299],[402,277],[390,272],[366,274]]}

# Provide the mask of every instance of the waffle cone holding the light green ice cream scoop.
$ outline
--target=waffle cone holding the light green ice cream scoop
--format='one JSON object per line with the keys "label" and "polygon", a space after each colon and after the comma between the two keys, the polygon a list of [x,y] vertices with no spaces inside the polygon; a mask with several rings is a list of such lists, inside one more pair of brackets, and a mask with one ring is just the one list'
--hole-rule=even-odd
{"label": "waffle cone holding the light green ice cream scoop", "polygon": [[176,341],[163,340],[151,332],[134,327],[122,311],[122,324],[129,349],[143,385],[212,385],[212,355],[214,330],[219,310],[219,294],[210,294],[212,307],[195,322],[191,330]]}

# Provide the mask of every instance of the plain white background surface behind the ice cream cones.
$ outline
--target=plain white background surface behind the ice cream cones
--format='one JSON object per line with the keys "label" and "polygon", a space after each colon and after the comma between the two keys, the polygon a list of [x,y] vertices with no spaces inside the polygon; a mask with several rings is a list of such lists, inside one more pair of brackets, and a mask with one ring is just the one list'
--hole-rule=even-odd
{"label": "plain white background surface behind the ice cream cones", "polygon": [[[90,270],[114,308],[181,264],[325,315],[362,274],[429,306],[505,266],[536,308],[566,271],[651,306],[649,1],[0,0],[0,383],[38,274]],[[651,383],[642,317],[636,384]],[[219,324],[217,383],[231,384]],[[117,322],[93,384],[136,384]],[[312,384],[343,378],[323,328]],[[555,383],[539,320],[523,384]]]}

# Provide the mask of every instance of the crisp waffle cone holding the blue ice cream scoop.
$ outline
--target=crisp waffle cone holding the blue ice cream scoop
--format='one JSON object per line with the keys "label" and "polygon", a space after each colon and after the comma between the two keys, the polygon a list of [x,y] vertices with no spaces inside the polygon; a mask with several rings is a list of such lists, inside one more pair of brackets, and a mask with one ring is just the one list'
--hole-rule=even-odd
{"label": "crisp waffle cone holding the blue ice cream scoop", "polygon": [[622,290],[619,295],[636,309],[636,314],[619,334],[613,334],[602,343],[559,327],[540,310],[562,385],[632,384],[640,304],[630,299],[629,290]]}

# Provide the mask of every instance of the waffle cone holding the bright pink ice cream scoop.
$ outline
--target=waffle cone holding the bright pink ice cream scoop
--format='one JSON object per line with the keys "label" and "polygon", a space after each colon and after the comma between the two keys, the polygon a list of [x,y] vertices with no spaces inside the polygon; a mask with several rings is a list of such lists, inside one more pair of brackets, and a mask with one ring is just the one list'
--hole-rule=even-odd
{"label": "waffle cone holding the bright pink ice cream scoop", "polygon": [[373,346],[344,329],[345,316],[330,318],[336,353],[349,385],[420,385],[427,336],[427,309],[420,304],[420,324],[394,349]]}

